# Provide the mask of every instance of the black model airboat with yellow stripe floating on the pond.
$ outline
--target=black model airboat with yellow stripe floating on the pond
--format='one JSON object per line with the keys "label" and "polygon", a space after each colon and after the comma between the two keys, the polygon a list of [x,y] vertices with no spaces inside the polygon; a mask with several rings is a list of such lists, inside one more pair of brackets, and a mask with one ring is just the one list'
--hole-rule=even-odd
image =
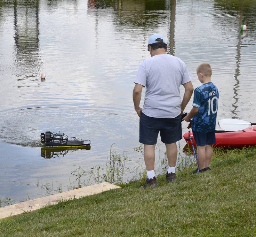
{"label": "black model airboat with yellow stripe floating on the pond", "polygon": [[47,147],[67,147],[67,148],[82,148],[90,146],[91,141],[86,139],[79,139],[78,137],[71,137],[64,133],[41,133],[41,142]]}

